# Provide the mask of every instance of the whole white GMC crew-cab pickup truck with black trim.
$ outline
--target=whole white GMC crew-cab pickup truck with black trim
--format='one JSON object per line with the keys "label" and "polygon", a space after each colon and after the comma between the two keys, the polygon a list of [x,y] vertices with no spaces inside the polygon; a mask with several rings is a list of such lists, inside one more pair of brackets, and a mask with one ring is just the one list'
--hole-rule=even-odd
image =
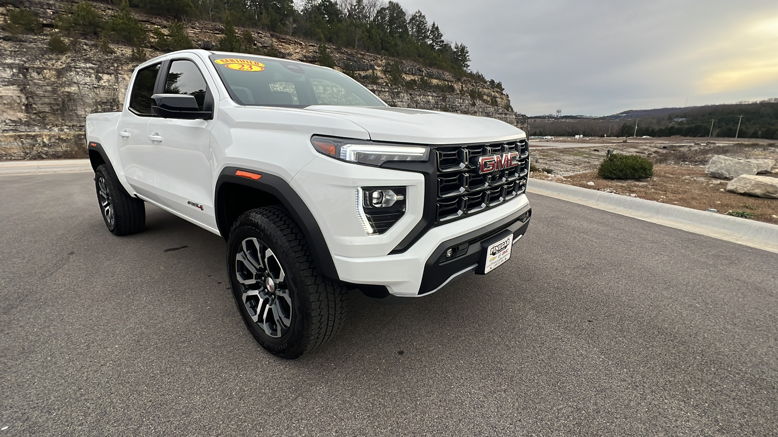
{"label": "whole white GMC crew-cab pickup truck with black trim", "polygon": [[145,61],[121,112],[86,117],[86,141],[110,232],[141,231],[149,202],[223,236],[240,314],[283,358],[338,331],[349,289],[407,300],[488,273],[531,216],[524,131],[388,107],[296,61]]}

